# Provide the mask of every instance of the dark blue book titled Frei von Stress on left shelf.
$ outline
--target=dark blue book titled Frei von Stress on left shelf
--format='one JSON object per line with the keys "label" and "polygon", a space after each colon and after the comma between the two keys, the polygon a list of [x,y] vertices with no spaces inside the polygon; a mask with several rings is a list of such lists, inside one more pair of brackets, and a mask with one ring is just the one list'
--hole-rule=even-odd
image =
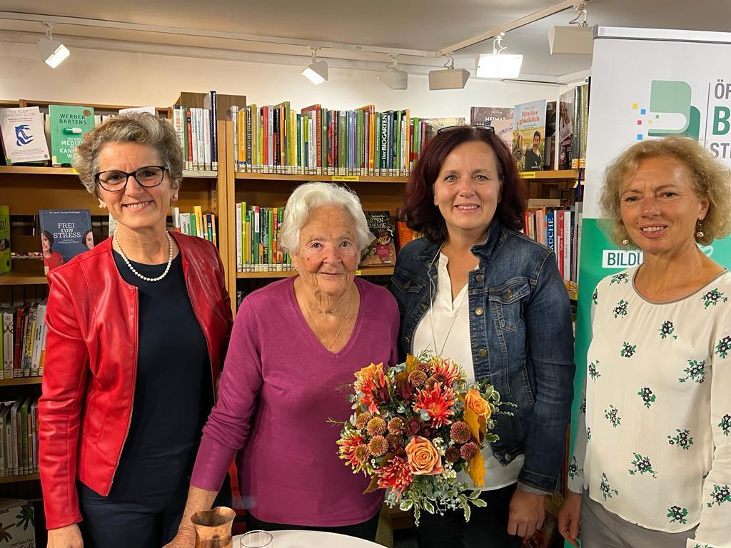
{"label": "dark blue book titled Frei von Stress on left shelf", "polygon": [[[91,216],[87,209],[51,210],[38,212],[41,227],[41,250],[45,273],[88,251],[86,243],[91,233]],[[93,240],[93,237],[92,237]]]}

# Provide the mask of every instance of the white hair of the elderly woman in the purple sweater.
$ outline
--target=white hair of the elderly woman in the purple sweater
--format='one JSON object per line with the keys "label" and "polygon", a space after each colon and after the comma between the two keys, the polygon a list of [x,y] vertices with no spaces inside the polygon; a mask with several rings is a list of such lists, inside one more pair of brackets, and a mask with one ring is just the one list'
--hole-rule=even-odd
{"label": "white hair of the elderly woman in the purple sweater", "polygon": [[290,254],[300,247],[300,230],[305,226],[312,211],[322,205],[342,208],[355,225],[355,239],[359,251],[368,247],[375,236],[368,229],[366,214],[357,194],[336,183],[314,181],[298,186],[287,199],[284,221],[281,224],[281,244]]}

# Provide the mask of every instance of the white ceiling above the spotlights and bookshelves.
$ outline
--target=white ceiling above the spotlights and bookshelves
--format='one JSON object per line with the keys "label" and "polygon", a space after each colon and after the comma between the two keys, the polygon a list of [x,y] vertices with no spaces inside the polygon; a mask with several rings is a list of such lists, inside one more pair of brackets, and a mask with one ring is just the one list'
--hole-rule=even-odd
{"label": "white ceiling above the spotlights and bookshelves", "polygon": [[[427,56],[401,55],[401,68],[423,72],[439,66],[436,52],[463,40],[506,25],[558,0],[0,0],[0,12],[67,16],[121,23],[173,27],[179,34],[141,30],[99,28],[58,23],[54,35],[69,47],[144,51],[158,53],[292,62],[292,56],[307,56],[307,43],[341,42],[366,48],[421,50]],[[729,31],[730,0],[589,0],[588,24],[645,28]],[[574,18],[567,9],[507,33],[505,53],[522,53],[523,75],[556,77],[591,67],[590,56],[551,56],[548,29],[567,25]],[[30,18],[30,16],[29,16]],[[252,34],[302,40],[299,45],[254,42],[241,37],[196,36],[196,31]],[[188,34],[189,32],[189,34]],[[35,42],[42,33],[36,20],[12,20],[0,15],[0,41]],[[181,47],[183,49],[181,49]],[[477,53],[489,53],[485,41],[455,53],[455,65],[472,70]],[[385,50],[369,53],[353,47],[325,48],[319,56],[345,60],[345,66],[379,69],[388,61]],[[288,61],[284,59],[288,58]],[[411,66],[409,66],[411,65]],[[336,65],[337,66],[337,65]]]}

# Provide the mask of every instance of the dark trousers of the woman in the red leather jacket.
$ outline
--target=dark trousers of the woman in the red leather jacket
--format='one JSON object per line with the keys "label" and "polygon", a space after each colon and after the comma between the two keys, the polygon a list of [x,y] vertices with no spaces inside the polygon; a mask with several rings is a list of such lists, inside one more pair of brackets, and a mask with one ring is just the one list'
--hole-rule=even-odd
{"label": "dark trousers of the woman in the red leather jacket", "polygon": [[[84,548],[160,548],[178,533],[188,486],[127,497],[103,497],[77,482]],[[224,479],[213,506],[231,506]]]}

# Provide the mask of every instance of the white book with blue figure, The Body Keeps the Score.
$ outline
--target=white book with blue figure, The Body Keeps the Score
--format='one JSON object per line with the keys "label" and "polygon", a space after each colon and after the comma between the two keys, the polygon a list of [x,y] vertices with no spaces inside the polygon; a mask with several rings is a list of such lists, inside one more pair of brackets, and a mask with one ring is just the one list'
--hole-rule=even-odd
{"label": "white book with blue figure, The Body Keeps the Score", "polygon": [[0,109],[0,130],[7,165],[48,161],[43,115],[38,107]]}

